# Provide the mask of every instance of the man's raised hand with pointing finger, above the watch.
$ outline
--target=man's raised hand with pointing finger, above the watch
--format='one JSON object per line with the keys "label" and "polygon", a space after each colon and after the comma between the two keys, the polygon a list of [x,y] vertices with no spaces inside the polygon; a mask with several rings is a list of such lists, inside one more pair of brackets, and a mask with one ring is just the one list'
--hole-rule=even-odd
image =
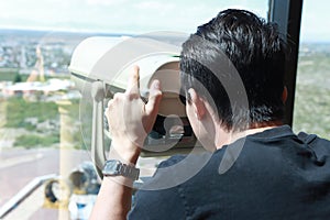
{"label": "man's raised hand with pointing finger, above the watch", "polygon": [[[162,99],[161,85],[154,80],[147,103],[140,97],[139,67],[134,66],[124,94],[116,94],[108,102],[106,117],[112,136],[111,152],[124,162],[135,164],[147,133],[155,123]],[[111,154],[111,153],[110,153]]]}

